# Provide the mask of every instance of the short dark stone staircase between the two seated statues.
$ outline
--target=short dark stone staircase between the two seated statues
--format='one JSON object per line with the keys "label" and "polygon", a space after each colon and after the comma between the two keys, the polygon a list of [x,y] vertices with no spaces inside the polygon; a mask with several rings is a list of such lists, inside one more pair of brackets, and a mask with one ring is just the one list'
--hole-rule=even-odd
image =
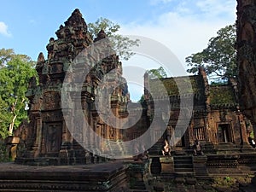
{"label": "short dark stone staircase between the two seated statues", "polygon": [[178,174],[194,172],[192,156],[174,156],[173,160],[174,172]]}

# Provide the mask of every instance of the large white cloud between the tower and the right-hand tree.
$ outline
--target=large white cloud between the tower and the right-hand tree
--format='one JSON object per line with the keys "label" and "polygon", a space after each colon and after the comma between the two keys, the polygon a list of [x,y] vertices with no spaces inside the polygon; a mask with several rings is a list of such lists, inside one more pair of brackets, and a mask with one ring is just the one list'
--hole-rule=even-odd
{"label": "large white cloud between the tower and the right-hand tree", "polygon": [[[216,36],[220,28],[233,24],[236,20],[236,2],[233,0],[226,0],[229,5],[225,7],[227,10],[218,6],[218,3],[221,5],[220,0],[207,0],[203,3],[204,1],[206,0],[196,1],[196,6],[183,1],[183,6],[177,5],[175,12],[163,13],[154,22],[121,25],[120,32],[153,38],[165,44],[186,66],[185,57],[206,48],[208,40]],[[214,3],[215,1],[218,3]],[[203,15],[196,14],[198,8],[204,12]],[[217,13],[222,15],[217,17]]]}

